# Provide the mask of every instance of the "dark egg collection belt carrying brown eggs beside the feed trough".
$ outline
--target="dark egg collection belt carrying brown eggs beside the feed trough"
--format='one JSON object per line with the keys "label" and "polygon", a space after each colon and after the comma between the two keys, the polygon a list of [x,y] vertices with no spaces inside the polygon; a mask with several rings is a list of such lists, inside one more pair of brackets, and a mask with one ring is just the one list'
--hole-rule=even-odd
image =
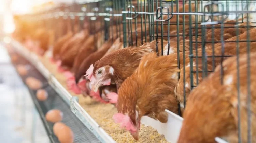
{"label": "dark egg collection belt carrying brown eggs beside the feed trough", "polygon": [[[9,53],[11,55],[11,53]],[[63,119],[61,122],[65,123],[71,128],[74,133],[75,143],[100,143],[99,139],[96,138],[93,133],[72,113],[69,104],[67,104],[62,97],[53,89],[48,83],[47,79],[30,63],[29,60],[24,58],[18,52],[15,54],[18,56],[18,61],[12,64],[16,67],[19,64],[30,65],[28,74],[25,76],[20,75],[23,83],[26,85],[25,80],[27,77],[34,77],[42,82],[42,89],[48,92],[48,99],[46,101],[39,101],[36,97],[36,90],[31,90],[28,87],[32,101],[38,110],[42,123],[44,124],[47,135],[52,143],[58,143],[57,137],[53,133],[53,123],[47,122],[45,114],[51,109],[59,109],[63,112]],[[27,86],[27,85],[26,85]]]}

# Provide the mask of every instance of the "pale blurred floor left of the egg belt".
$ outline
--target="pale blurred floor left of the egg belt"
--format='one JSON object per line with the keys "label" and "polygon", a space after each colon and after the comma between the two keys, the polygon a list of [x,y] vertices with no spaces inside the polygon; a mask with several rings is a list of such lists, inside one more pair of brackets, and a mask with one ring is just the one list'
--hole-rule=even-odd
{"label": "pale blurred floor left of the egg belt", "polygon": [[0,142],[49,143],[27,88],[0,44]]}

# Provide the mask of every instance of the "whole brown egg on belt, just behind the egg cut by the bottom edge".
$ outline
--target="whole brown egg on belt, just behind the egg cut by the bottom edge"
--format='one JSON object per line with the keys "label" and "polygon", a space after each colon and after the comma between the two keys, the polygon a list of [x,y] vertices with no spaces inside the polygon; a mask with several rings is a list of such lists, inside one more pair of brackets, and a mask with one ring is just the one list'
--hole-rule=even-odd
{"label": "whole brown egg on belt, just behind the egg cut by the bottom edge", "polygon": [[52,123],[60,122],[62,117],[63,113],[58,109],[50,110],[45,115],[46,120]]}

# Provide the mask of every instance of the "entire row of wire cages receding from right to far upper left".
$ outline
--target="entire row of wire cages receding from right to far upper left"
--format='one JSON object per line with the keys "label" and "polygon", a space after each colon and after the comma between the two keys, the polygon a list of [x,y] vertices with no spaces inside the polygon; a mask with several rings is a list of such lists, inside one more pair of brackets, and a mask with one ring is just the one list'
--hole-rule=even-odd
{"label": "entire row of wire cages receding from right to far upper left", "polygon": [[[176,54],[180,86],[174,92],[183,100],[178,105],[180,114],[186,106],[186,96],[218,65],[229,57],[254,51],[255,3],[254,0],[76,1],[18,16],[16,21],[29,21],[35,27],[53,31],[54,41],[68,31],[88,29],[97,41],[102,35],[101,44],[118,39],[124,47],[139,47],[150,42],[157,53],[161,51],[158,56]],[[221,66],[222,84],[224,73]],[[237,85],[239,91],[239,81]]]}

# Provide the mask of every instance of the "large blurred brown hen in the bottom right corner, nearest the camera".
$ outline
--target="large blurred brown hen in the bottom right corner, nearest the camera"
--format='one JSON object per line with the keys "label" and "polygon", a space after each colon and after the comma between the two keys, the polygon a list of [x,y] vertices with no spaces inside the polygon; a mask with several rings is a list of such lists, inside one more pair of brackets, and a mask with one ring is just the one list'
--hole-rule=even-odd
{"label": "large blurred brown hen in the bottom right corner, nearest the camera", "polygon": [[[241,111],[241,139],[247,143],[248,95],[251,98],[251,121],[256,117],[256,53],[232,57],[223,62],[215,72],[202,81],[189,95],[178,143],[215,143],[215,137],[223,137],[230,143],[238,142],[238,91]],[[250,59],[250,65],[248,65]],[[250,77],[248,76],[250,67]],[[239,90],[238,70],[239,69]],[[250,81],[248,81],[248,78]],[[221,82],[223,79],[223,83]],[[248,82],[250,85],[248,85]],[[250,94],[248,94],[250,87]],[[251,122],[251,139],[256,142],[256,124]]]}

